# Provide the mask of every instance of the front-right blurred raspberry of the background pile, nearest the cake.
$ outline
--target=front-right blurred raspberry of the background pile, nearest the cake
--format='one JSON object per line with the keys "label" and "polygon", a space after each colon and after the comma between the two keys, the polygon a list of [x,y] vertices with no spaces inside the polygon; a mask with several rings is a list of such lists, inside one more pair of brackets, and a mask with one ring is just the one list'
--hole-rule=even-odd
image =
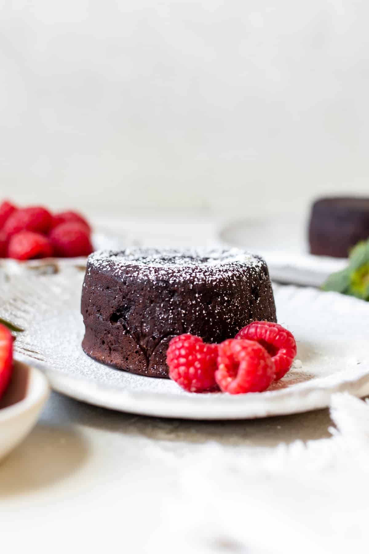
{"label": "front-right blurred raspberry of the background pile, nearest the cake", "polygon": [[50,240],[54,253],[61,258],[88,256],[93,248],[90,233],[81,223],[62,223],[51,230]]}

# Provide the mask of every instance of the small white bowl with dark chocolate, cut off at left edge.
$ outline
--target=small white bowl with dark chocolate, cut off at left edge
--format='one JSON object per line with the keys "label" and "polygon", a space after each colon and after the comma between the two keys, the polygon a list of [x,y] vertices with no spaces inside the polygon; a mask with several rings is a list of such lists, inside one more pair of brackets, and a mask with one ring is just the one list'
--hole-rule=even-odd
{"label": "small white bowl with dark chocolate, cut off at left edge", "polygon": [[0,460],[34,427],[49,392],[41,371],[14,361],[11,383],[0,400]]}

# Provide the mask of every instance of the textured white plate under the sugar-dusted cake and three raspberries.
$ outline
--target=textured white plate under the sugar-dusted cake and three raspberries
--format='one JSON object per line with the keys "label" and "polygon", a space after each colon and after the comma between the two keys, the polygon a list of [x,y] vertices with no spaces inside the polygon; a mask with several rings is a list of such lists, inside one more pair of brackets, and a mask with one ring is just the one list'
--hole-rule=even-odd
{"label": "textured white plate under the sugar-dusted cake and three raspberries", "polygon": [[264,393],[190,394],[168,379],[132,375],[103,366],[81,349],[83,273],[13,278],[2,285],[0,315],[25,330],[18,358],[43,368],[51,386],[98,406],[138,414],[189,419],[242,419],[328,406],[333,392],[369,394],[365,302],[314,289],[277,286],[278,321],[298,341],[295,367]]}

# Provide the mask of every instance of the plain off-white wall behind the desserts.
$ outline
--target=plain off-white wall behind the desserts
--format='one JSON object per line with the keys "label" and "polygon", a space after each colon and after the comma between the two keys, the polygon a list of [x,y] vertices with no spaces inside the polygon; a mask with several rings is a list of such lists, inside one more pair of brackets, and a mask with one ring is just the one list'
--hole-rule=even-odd
{"label": "plain off-white wall behind the desserts", "polygon": [[369,4],[3,0],[19,203],[254,213],[367,193]]}

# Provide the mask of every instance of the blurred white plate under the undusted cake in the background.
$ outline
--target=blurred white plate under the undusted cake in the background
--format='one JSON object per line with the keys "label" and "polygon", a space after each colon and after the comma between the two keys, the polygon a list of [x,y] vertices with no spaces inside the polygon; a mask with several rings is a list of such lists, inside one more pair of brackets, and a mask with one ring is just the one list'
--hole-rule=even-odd
{"label": "blurred white plate under the undusted cake in the background", "polygon": [[272,279],[279,283],[320,286],[347,260],[308,254],[303,216],[248,218],[219,230],[221,243],[257,252],[266,259]]}

